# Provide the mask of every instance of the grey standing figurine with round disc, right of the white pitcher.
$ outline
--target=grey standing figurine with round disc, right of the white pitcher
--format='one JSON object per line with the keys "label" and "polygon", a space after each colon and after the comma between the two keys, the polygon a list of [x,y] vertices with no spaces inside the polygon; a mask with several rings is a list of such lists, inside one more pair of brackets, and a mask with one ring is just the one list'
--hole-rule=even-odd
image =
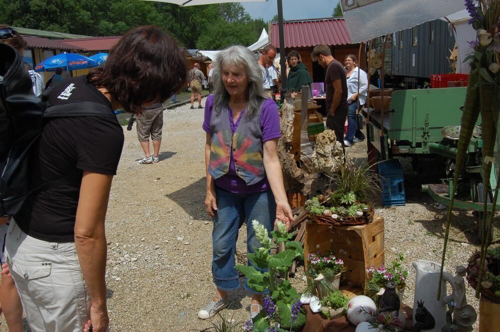
{"label": "grey standing figurine with round disc, right of the white pitcher", "polygon": [[465,267],[463,265],[456,266],[455,275],[453,276],[453,283],[455,290],[453,292],[453,321],[458,327],[458,331],[466,332],[472,330],[472,324],[477,319],[477,313],[474,308],[467,304],[465,297]]}

